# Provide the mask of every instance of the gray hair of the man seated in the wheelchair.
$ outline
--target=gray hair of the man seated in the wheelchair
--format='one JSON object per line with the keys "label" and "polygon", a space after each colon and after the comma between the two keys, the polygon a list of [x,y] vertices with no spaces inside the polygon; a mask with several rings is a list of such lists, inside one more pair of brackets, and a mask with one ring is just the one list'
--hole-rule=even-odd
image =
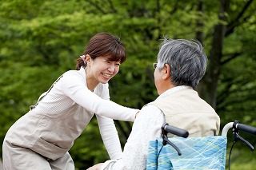
{"label": "gray hair of the man seated in the wheelchair", "polygon": [[200,42],[165,37],[158,53],[158,69],[170,65],[172,84],[196,88],[206,73],[207,57]]}

